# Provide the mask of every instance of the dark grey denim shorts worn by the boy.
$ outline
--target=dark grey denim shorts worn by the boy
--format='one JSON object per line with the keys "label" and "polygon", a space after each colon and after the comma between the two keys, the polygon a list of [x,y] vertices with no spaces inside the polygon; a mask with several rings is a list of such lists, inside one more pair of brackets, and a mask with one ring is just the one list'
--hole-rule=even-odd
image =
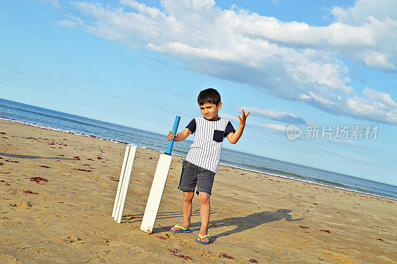
{"label": "dark grey denim shorts worn by the boy", "polygon": [[201,192],[211,195],[214,178],[214,172],[184,160],[182,162],[181,180],[179,181],[178,189],[194,192],[197,185],[196,194]]}

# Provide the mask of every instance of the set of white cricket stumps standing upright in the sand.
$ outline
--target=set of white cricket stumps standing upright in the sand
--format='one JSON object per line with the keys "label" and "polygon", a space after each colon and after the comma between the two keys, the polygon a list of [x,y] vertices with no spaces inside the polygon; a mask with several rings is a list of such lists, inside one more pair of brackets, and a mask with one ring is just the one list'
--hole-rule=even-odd
{"label": "set of white cricket stumps standing upright in the sand", "polygon": [[112,212],[112,217],[114,217],[114,219],[118,223],[121,223],[121,218],[123,216],[124,204],[126,202],[128,187],[130,185],[130,178],[135,154],[136,146],[128,145],[126,147],[126,153],[124,154],[123,166],[120,173],[119,185],[117,187],[117,193]]}

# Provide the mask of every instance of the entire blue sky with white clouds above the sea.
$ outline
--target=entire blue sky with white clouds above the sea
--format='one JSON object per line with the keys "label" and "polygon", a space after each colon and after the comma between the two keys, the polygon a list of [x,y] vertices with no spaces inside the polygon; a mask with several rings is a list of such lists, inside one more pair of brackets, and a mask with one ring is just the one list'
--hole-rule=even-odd
{"label": "entire blue sky with white clouds above the sea", "polygon": [[[181,129],[199,116],[197,95],[212,87],[235,127],[251,110],[224,147],[397,185],[395,10],[392,0],[2,1],[0,97],[166,133],[175,115]],[[301,138],[287,138],[290,124]],[[306,139],[308,126],[334,131]],[[379,129],[344,139],[337,126]]]}

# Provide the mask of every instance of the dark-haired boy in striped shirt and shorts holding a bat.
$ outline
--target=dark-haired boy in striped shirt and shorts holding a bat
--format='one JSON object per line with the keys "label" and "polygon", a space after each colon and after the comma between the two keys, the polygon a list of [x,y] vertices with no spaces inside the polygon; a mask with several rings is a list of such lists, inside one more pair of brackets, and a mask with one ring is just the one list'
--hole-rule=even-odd
{"label": "dark-haired boy in striped shirt and shorts holding a bat", "polygon": [[[236,131],[230,121],[218,116],[218,111],[222,106],[218,91],[212,88],[205,89],[199,93],[197,101],[203,117],[193,119],[183,132],[175,135],[176,142],[184,140],[191,133],[195,133],[195,138],[188,155],[182,162],[182,173],[178,187],[179,190],[183,191],[183,223],[175,225],[169,230],[174,233],[192,232],[190,217],[192,214],[192,199],[197,184],[196,193],[199,195],[200,201],[201,228],[196,242],[208,244],[209,197],[218,169],[222,141],[227,137],[230,143],[235,144],[240,139],[250,112],[246,115],[242,110],[242,116],[238,116],[240,125]],[[170,131],[168,140],[172,138],[174,138],[174,135]]]}

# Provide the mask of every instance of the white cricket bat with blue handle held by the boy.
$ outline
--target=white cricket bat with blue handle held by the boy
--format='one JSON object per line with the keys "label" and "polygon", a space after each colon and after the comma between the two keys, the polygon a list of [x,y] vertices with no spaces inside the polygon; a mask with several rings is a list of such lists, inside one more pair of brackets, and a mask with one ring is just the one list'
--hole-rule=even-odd
{"label": "white cricket bat with blue handle held by the boy", "polygon": [[[178,130],[180,116],[176,116],[172,132],[174,135]],[[174,140],[168,142],[166,151],[160,155],[157,163],[156,172],[154,173],[152,187],[150,188],[149,198],[147,198],[145,212],[143,214],[140,230],[145,233],[151,234],[156,220],[158,208],[160,207],[161,197],[163,196],[165,182],[167,181],[168,172],[170,171],[172,156],[171,150],[174,145]]]}

